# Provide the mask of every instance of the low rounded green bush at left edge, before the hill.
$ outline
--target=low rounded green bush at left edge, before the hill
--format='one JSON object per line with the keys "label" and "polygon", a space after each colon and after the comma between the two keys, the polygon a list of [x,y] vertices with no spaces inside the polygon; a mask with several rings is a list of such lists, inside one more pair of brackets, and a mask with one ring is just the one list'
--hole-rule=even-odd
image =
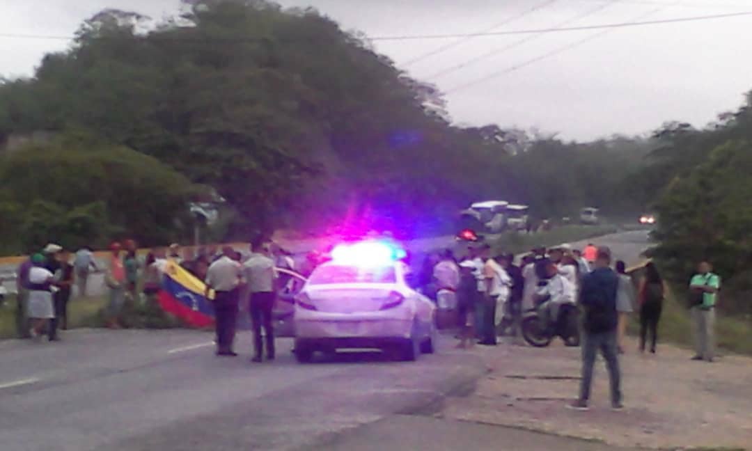
{"label": "low rounded green bush at left edge, before the hill", "polygon": [[176,239],[190,225],[196,188],[156,159],[126,147],[59,139],[26,147],[0,165],[0,220],[7,253],[49,241],[104,247],[112,238],[143,244]]}

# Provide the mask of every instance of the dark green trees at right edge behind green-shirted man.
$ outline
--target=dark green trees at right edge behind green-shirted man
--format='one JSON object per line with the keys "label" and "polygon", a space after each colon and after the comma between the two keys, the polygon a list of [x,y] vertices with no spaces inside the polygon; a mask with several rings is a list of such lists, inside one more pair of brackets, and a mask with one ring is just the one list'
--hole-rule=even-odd
{"label": "dark green trees at right edge behind green-shirted man", "polygon": [[720,308],[750,313],[752,289],[752,95],[733,114],[705,130],[667,124],[663,146],[642,173],[658,192],[656,256],[684,283],[708,260],[726,281]]}

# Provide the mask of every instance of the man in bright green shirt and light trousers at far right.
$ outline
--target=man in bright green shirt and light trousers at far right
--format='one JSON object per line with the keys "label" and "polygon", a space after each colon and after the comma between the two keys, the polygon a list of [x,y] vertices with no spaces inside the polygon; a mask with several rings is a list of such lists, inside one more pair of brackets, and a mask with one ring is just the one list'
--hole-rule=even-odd
{"label": "man in bright green shirt and light trousers at far right", "polygon": [[702,303],[692,307],[696,356],[693,360],[713,362],[715,357],[715,302],[720,289],[720,277],[713,274],[708,262],[701,262],[698,273],[690,281],[690,289],[702,294]]}

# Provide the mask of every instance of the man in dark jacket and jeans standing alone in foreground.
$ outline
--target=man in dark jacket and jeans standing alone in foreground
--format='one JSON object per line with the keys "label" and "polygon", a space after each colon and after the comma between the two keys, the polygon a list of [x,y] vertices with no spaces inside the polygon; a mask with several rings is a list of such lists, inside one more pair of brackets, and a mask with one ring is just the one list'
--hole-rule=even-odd
{"label": "man in dark jacket and jeans standing alone in foreground", "polygon": [[608,368],[611,382],[611,407],[623,409],[621,374],[617,355],[617,290],[619,276],[609,265],[611,250],[599,247],[596,251],[595,270],[584,277],[580,290],[580,303],[585,310],[582,341],[582,380],[580,397],[568,407],[587,410],[590,387],[593,383],[593,365],[600,351]]}

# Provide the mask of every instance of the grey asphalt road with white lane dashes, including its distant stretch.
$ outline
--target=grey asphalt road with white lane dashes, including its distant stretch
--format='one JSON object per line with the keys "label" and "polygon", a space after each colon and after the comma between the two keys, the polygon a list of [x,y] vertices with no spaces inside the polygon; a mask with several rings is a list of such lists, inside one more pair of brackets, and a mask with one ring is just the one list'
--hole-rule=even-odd
{"label": "grey asphalt road with white lane dashes, including its distant stretch", "polygon": [[[594,242],[631,264],[647,235]],[[259,365],[248,361],[247,334],[238,338],[235,359],[215,357],[212,338],[83,330],[54,344],[0,343],[0,449],[520,449],[498,445],[518,443],[520,434],[526,449],[552,449],[551,437],[442,426],[426,416],[486,371],[478,356],[453,350],[448,337],[436,355],[414,363],[366,353],[312,365],[294,361],[289,339],[278,341],[276,362]],[[556,440],[561,449],[600,449]]]}

